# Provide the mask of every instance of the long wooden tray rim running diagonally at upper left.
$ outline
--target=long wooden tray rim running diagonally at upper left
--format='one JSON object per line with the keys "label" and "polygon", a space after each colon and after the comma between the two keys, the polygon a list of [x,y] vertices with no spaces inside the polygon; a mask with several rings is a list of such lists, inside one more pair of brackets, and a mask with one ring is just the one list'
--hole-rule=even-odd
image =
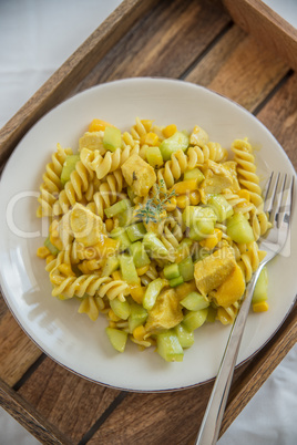
{"label": "long wooden tray rim running diagonally at upper left", "polygon": [[28,130],[62,102],[156,1],[124,0],[0,130],[0,169]]}

